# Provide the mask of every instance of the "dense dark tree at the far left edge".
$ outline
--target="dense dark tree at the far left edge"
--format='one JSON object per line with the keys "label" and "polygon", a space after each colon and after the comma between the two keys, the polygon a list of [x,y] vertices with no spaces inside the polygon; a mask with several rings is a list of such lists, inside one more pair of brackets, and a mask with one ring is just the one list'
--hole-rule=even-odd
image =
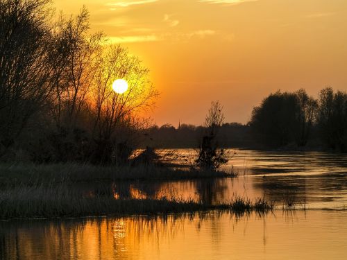
{"label": "dense dark tree at the far left edge", "polygon": [[14,144],[51,93],[61,59],[51,44],[49,0],[0,0],[0,146]]}

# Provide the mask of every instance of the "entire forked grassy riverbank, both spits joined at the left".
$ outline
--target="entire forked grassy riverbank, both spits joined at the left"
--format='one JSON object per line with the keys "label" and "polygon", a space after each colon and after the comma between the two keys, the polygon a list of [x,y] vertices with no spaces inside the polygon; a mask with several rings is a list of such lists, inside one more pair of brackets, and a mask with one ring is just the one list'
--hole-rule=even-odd
{"label": "entire forked grassy riverbank, both spits joined at the left", "polygon": [[[267,210],[261,200],[232,200],[208,205],[195,200],[141,197],[119,190],[114,182],[187,180],[236,177],[223,171],[171,169],[158,166],[92,166],[87,164],[0,166],[0,218],[57,218],[78,216],[114,216],[131,214],[169,214],[237,209]],[[78,189],[78,184],[92,184],[92,189]],[[119,196],[121,194],[121,196]]]}

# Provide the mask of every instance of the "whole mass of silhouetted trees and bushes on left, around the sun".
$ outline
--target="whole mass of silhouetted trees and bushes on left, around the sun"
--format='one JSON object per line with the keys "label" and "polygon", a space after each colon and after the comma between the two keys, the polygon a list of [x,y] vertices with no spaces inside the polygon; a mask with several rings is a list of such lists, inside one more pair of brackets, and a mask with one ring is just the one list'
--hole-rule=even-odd
{"label": "whole mass of silhouetted trees and bushes on left, around the sun", "polygon": [[[112,82],[123,78],[128,91]],[[96,164],[128,158],[158,92],[149,69],[85,7],[56,19],[50,0],[0,0],[0,158]]]}

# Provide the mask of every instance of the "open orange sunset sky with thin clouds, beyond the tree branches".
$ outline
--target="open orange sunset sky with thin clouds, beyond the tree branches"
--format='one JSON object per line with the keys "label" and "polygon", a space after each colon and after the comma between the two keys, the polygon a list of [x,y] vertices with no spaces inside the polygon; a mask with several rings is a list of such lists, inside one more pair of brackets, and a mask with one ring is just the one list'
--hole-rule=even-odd
{"label": "open orange sunset sky with thin clouds, beyond the tree branches", "polygon": [[55,0],[139,56],[160,92],[153,123],[200,125],[211,101],[247,123],[271,92],[347,90],[346,0]]}

